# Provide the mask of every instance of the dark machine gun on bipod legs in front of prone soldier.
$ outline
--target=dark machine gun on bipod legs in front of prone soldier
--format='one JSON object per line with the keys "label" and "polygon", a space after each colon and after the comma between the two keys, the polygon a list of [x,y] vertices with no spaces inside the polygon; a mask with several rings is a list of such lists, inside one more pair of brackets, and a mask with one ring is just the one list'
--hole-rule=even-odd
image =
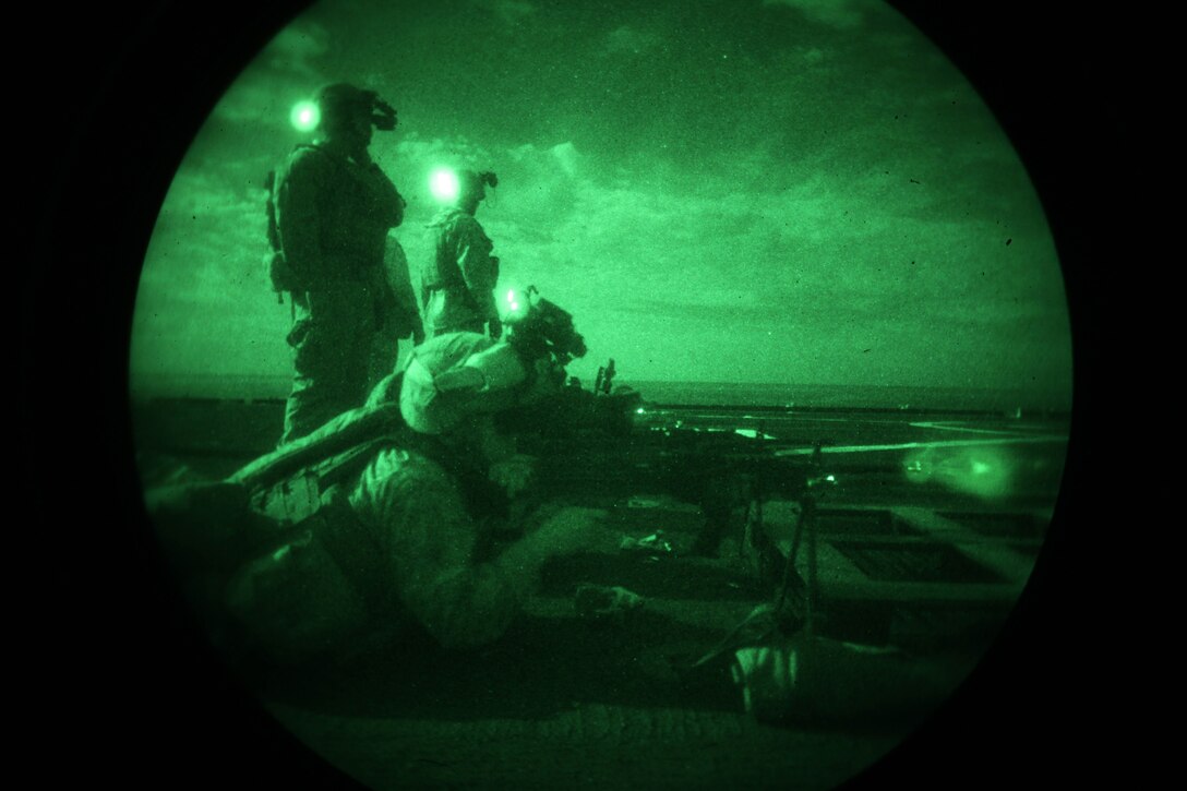
{"label": "dark machine gun on bipod legs in front of prone soldier", "polygon": [[[779,622],[811,633],[819,587],[817,501],[837,483],[823,443],[801,453],[804,443],[761,430],[696,425],[684,411],[656,409],[624,387],[570,385],[537,419],[544,429],[521,449],[544,460],[538,475],[545,496],[612,507],[659,495],[697,506],[704,523],[688,552],[713,556],[724,538],[736,536],[743,562],[773,591]],[[799,505],[789,548],[776,544],[763,524],[764,504],[774,500]],[[796,571],[801,549],[806,580]]]}

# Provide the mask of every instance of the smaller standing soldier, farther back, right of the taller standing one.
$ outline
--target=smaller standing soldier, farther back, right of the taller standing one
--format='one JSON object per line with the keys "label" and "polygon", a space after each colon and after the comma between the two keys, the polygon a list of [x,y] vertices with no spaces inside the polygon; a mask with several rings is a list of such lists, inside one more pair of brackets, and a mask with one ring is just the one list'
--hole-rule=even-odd
{"label": "smaller standing soldier, farther back, right of the taller standing one", "polygon": [[502,335],[495,308],[499,259],[494,245],[474,216],[485,197],[485,185],[497,186],[491,172],[463,170],[453,205],[429,224],[432,259],[420,279],[420,305],[429,336],[445,333]]}

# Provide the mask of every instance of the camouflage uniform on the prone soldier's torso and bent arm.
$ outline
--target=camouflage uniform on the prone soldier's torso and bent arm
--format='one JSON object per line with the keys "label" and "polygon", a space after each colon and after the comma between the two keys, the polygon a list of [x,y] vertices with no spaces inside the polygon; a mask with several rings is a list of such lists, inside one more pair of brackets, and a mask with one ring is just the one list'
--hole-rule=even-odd
{"label": "camouflage uniform on the prone soldier's torso and bent arm", "polygon": [[459,648],[497,639],[520,613],[531,581],[489,556],[501,520],[482,510],[497,500],[465,498],[456,464],[401,444],[367,453],[353,481],[231,577],[226,602],[247,647],[344,662],[426,632]]}

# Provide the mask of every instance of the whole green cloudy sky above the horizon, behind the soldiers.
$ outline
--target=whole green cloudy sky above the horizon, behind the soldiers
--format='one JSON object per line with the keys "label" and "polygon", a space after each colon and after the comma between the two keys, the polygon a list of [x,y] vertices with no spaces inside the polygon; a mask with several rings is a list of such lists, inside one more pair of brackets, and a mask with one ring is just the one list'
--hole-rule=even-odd
{"label": "whole green cloudy sky above the horizon, behind the soldiers", "polygon": [[325,82],[399,110],[373,153],[427,255],[439,165],[499,173],[502,285],[623,379],[1071,390],[1039,198],[960,72],[876,0],[322,0],[212,108],[161,208],[133,380],[290,371],[264,175]]}

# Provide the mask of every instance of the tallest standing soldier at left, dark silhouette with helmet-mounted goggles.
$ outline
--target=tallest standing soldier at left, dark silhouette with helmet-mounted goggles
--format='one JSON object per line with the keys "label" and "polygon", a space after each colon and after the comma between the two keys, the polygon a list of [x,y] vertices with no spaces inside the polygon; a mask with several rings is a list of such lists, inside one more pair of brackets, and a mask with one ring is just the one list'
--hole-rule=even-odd
{"label": "tallest standing soldier at left, dark silhouette with helmet-mounted goggles", "polygon": [[293,303],[281,444],[363,404],[372,346],[394,299],[385,245],[404,221],[404,198],[367,151],[373,128],[395,128],[395,110],[345,83],[322,88],[316,103],[317,140],[297,146],[273,186],[274,266],[284,274],[273,284]]}

